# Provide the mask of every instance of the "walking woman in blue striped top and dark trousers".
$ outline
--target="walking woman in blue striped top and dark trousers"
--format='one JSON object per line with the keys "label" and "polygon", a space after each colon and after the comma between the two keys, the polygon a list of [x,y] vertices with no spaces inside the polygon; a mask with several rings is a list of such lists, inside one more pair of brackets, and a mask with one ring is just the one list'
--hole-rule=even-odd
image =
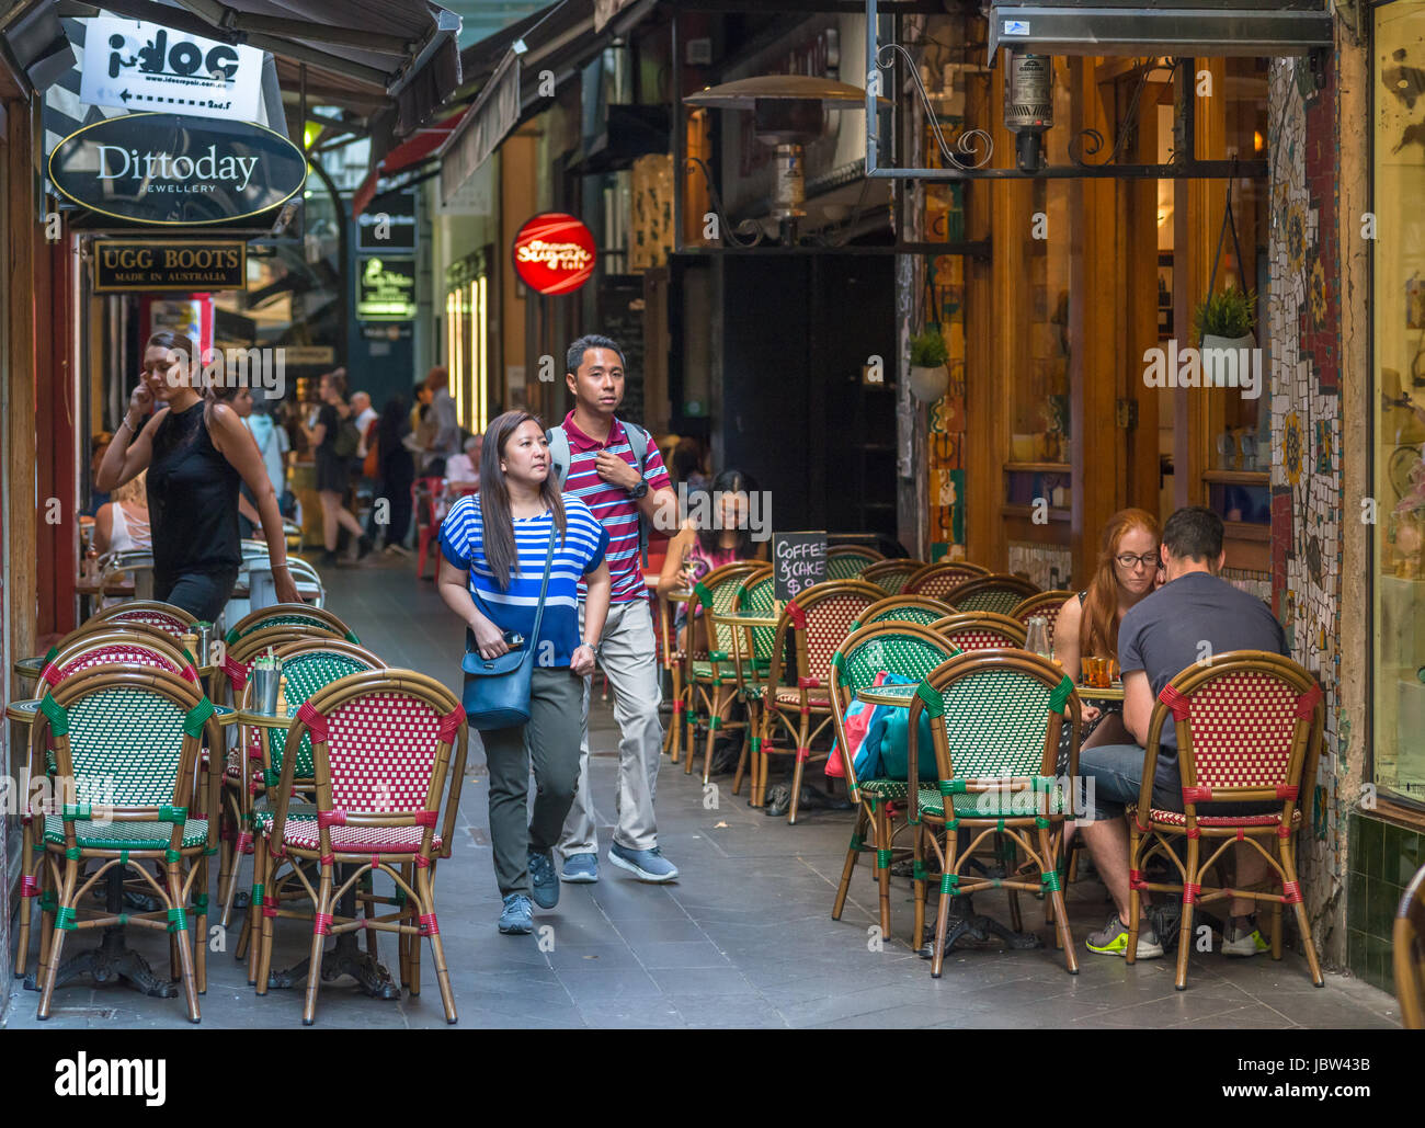
{"label": "walking woman in blue striped top and dark trousers", "polygon": [[[544,614],[533,638],[551,537]],[[512,642],[534,647],[529,724],[480,732],[490,769],[490,846],[504,902],[502,933],[534,930],[530,897],[543,909],[559,903],[550,850],[579,782],[584,677],[594,671],[608,614],[607,547],[608,534],[589,507],[560,494],[544,424],[527,412],[506,412],[490,423],[480,493],[456,501],[440,526],[439,590],[469,628],[467,649],[494,658]],[[580,578],[587,583],[583,638]],[[532,759],[536,796],[533,812],[526,812]]]}

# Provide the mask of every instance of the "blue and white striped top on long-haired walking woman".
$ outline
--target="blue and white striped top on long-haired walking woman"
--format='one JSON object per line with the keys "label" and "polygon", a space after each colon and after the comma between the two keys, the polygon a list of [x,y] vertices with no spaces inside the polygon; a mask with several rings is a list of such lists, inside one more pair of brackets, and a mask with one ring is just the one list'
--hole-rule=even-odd
{"label": "blue and white striped top on long-haired walking woman", "polygon": [[[539,607],[553,527],[554,514],[549,510],[539,517],[514,521],[519,573],[509,590],[500,591],[484,558],[479,494],[462,497],[440,523],[440,551],[456,568],[469,570],[470,597],[480,614],[502,631],[519,631],[526,638],[534,631],[534,610]],[[583,501],[566,494],[564,543],[554,544],[554,560],[549,568],[544,618],[534,642],[536,665],[567,667],[573,659],[579,647],[579,584],[583,575],[598,567],[607,547],[608,534],[594,514]]]}

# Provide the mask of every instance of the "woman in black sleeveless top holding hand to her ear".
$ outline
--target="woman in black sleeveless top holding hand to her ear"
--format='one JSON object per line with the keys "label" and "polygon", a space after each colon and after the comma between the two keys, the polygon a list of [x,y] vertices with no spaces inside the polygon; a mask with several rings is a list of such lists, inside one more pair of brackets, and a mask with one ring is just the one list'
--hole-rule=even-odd
{"label": "woman in black sleeveless top holding hand to her ear", "polygon": [[[276,595],[298,602],[282,517],[262,456],[229,404],[194,390],[198,372],[188,338],[165,330],[148,339],[138,387],[95,484],[117,490],[148,470],[154,598],[212,621],[222,614],[242,563],[238,487],[247,483],[266,533]],[[158,410],[140,429],[155,403]]]}

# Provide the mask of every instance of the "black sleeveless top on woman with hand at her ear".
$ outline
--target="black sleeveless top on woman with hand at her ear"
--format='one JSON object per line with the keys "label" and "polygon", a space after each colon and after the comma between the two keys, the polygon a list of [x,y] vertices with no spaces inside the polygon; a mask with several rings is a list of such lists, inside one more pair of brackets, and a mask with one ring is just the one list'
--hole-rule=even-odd
{"label": "black sleeveless top on woman with hand at her ear", "polygon": [[221,573],[242,563],[238,544],[241,476],[212,444],[204,400],[170,409],[154,432],[148,518],[160,575]]}

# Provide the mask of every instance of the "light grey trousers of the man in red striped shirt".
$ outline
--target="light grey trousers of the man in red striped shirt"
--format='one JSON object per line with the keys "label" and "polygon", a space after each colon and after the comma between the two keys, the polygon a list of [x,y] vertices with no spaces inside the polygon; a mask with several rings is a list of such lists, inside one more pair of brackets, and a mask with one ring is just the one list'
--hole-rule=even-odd
{"label": "light grey trousers of the man in red striped shirt", "polygon": [[[584,605],[579,605],[579,627],[584,627]],[[614,842],[628,850],[651,850],[658,845],[658,823],[653,800],[663,756],[663,721],[658,704],[658,659],[654,652],[653,615],[647,600],[613,604],[598,645],[598,665],[608,675],[618,722],[618,793]],[[559,850],[564,857],[598,853],[594,803],[589,793],[589,692],[593,678],[584,678],[583,728],[579,749],[579,788],[564,820]]]}

